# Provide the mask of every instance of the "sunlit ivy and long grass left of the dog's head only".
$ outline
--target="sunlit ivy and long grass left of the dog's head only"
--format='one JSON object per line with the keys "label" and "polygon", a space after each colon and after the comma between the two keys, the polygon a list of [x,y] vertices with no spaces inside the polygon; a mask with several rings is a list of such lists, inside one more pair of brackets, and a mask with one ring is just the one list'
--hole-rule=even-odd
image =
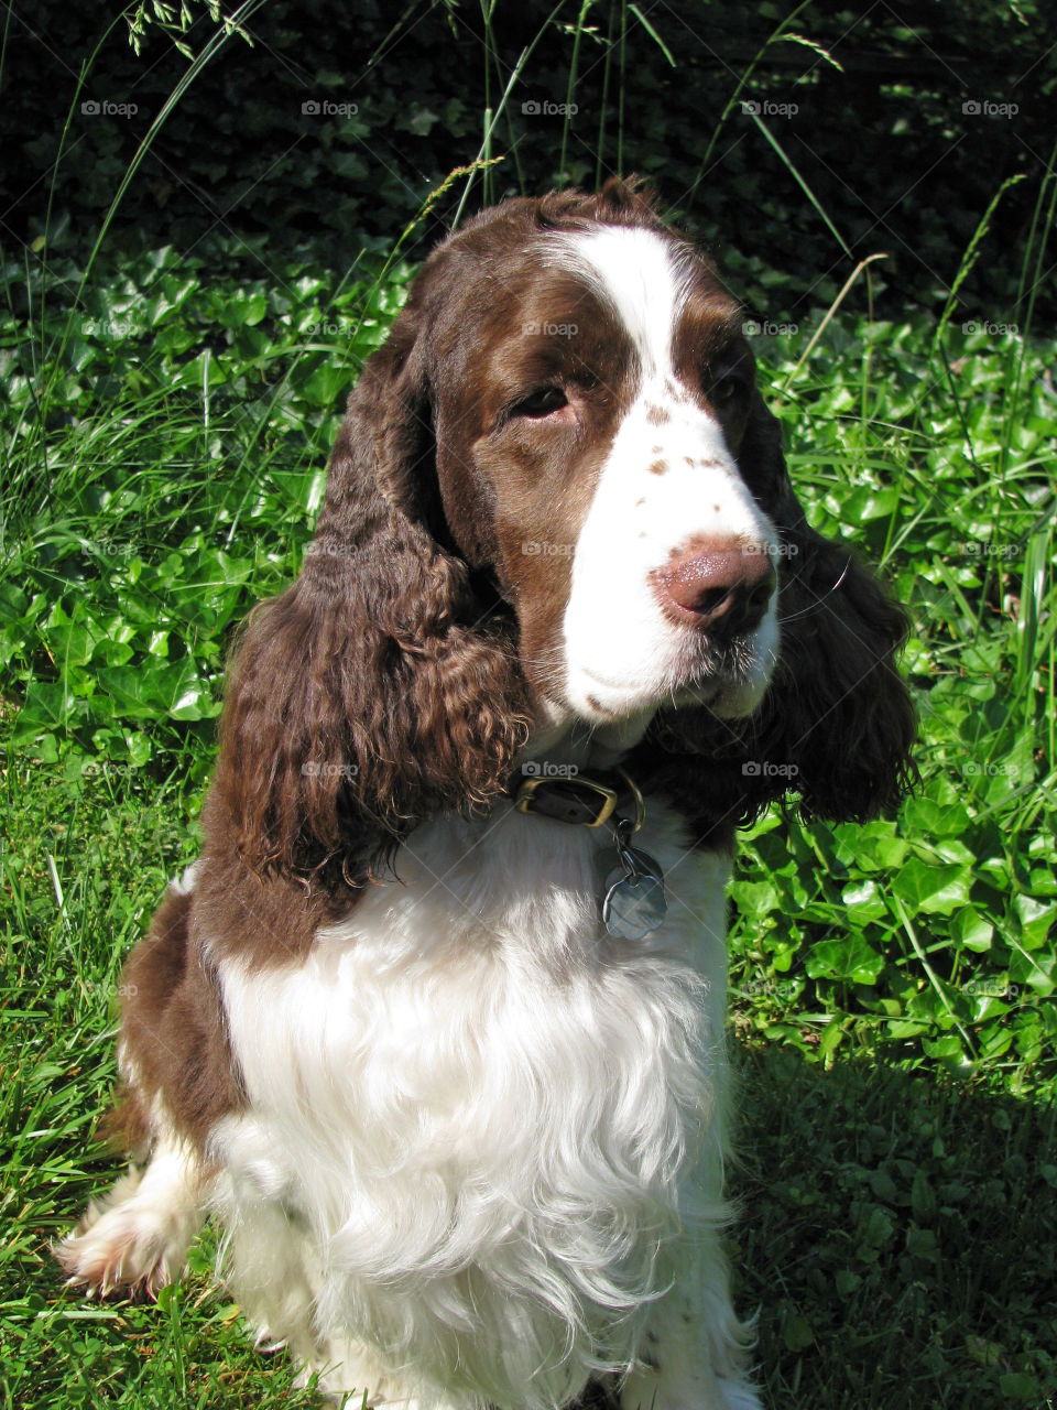
{"label": "sunlit ivy and long grass left of the dog's head only", "polygon": [[[296,575],[344,393],[403,300],[407,266],[379,283],[379,265],[233,282],[168,247],[118,259],[76,312],[7,265],[14,743],[140,767],[216,716],[227,632]],[[20,337],[31,303],[37,344]]]}

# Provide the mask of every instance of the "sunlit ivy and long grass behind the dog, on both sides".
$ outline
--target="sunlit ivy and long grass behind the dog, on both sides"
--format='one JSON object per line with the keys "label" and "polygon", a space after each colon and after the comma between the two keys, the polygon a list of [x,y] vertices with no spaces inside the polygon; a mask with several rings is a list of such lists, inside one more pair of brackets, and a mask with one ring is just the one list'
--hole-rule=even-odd
{"label": "sunlit ivy and long grass behind the dog, on both sides", "polygon": [[[68,777],[156,780],[179,757],[204,783],[231,627],[296,574],[344,392],[409,276],[366,255],[342,281],[292,264],[278,282],[233,282],[224,255],[117,259],[83,313],[6,271],[13,310],[44,310],[32,340],[17,312],[6,331],[10,740]],[[1047,350],[965,326],[937,355],[926,320],[839,316],[795,374],[819,321],[762,324],[755,343],[812,522],[882,561],[912,608],[923,784],[895,821],[830,830],[771,815],[746,839],[731,936],[744,1022],[826,1060],[884,1048],[910,1066],[1044,1081],[1057,1039]]]}

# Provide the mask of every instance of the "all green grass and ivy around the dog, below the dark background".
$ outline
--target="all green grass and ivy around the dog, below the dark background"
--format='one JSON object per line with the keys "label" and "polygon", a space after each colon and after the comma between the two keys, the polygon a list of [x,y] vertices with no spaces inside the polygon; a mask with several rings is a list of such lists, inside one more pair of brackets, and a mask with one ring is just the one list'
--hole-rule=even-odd
{"label": "all green grass and ivy around the dog, below the dark background", "polygon": [[[623,123],[623,44],[607,52]],[[96,243],[89,266],[59,219],[42,259],[0,271],[0,1406],[313,1403],[283,1355],[249,1349],[209,1237],[156,1307],[63,1290],[48,1241],[113,1179],[92,1132],[121,960],[196,853],[225,643],[297,571],[407,248],[341,275],[271,259],[262,279],[218,237],[194,258]],[[884,321],[874,293],[864,274],[832,317],[755,316],[809,517],[912,611],[923,783],[898,819],[774,812],[743,838],[738,1300],[760,1307],[768,1403],[1040,1406],[1057,1394],[1054,341],[1030,299],[1009,329],[954,300]],[[774,295],[792,307],[796,288]]]}

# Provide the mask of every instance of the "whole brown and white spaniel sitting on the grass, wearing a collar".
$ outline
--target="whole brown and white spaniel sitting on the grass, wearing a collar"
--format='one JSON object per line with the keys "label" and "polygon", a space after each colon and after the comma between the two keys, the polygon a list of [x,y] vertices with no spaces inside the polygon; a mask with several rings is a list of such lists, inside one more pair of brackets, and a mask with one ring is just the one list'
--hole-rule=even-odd
{"label": "whole brown and white spaniel sitting on the grass, wearing a collar", "polygon": [[106,1294],[207,1215],[262,1342],[426,1410],[748,1410],[724,887],[912,766],[903,612],[806,523],[743,314],[634,185],[483,212],[365,365],[124,976]]}

